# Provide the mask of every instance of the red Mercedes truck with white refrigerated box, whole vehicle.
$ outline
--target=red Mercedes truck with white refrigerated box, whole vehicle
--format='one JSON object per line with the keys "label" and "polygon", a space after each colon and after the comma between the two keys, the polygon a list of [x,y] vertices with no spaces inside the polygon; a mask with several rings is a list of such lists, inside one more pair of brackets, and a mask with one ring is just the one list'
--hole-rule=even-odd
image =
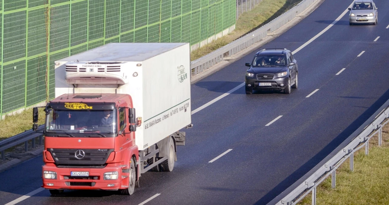
{"label": "red Mercedes truck with white refrigerated box, whole vehicle", "polygon": [[[189,44],[110,43],[55,61],[55,94],[42,187],[133,194],[142,173],[173,170],[193,126]],[[37,119],[35,107],[35,131]]]}

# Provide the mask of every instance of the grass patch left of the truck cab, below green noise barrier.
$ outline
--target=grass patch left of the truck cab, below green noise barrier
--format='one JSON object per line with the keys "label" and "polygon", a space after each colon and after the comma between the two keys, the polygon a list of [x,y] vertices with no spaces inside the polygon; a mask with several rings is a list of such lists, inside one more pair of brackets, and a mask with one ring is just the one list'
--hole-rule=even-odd
{"label": "grass patch left of the truck cab, below green noise barrier", "polygon": [[[43,108],[39,108],[38,124],[44,124],[45,112]],[[31,130],[32,122],[32,108],[26,109],[23,112],[15,115],[5,117],[0,121],[0,140],[17,135],[25,130]]]}

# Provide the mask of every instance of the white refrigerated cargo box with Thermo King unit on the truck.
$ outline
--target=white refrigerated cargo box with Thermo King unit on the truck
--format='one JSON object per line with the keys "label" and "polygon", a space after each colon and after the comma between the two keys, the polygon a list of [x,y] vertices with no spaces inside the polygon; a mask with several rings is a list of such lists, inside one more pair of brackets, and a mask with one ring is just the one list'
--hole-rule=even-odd
{"label": "white refrigerated cargo box with Thermo King unit on the truck", "polygon": [[142,125],[140,151],[191,126],[189,43],[110,43],[55,61],[55,96],[123,93]]}

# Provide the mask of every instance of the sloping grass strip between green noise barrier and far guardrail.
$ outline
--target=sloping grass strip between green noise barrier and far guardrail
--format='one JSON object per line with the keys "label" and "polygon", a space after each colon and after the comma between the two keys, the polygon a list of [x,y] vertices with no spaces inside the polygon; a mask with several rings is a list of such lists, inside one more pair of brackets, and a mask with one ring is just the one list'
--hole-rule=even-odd
{"label": "sloping grass strip between green noise barrier and far guardrail", "polygon": [[265,25],[300,2],[301,0],[263,0],[254,9],[239,16],[233,32],[192,51],[191,61],[205,56],[246,33]]}

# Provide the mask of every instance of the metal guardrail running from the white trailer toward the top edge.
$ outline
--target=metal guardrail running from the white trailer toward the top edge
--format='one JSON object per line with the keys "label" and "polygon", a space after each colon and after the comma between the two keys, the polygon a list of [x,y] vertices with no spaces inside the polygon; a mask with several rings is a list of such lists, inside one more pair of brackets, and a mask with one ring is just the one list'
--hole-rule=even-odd
{"label": "metal guardrail running from the white trailer toward the top edge", "polygon": [[285,24],[296,18],[297,15],[304,12],[310,5],[319,0],[303,0],[298,5],[294,6],[289,11],[273,19],[266,25],[261,26],[257,30],[248,33],[233,42],[223,46],[212,53],[209,53],[201,58],[191,61],[191,75],[198,75],[210,67],[221,63],[224,57],[231,57],[239,52],[249,48],[267,37],[268,33],[275,32]]}

